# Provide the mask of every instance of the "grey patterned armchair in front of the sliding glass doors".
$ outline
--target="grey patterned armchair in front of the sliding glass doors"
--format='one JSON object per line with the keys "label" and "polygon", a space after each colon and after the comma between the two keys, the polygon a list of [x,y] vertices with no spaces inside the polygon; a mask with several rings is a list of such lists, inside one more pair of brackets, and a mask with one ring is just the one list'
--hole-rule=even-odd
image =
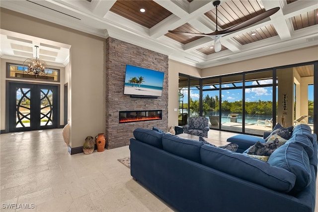
{"label": "grey patterned armchair in front of the sliding glass doors", "polygon": [[203,116],[190,117],[189,124],[183,126],[183,132],[191,135],[208,137],[209,120]]}

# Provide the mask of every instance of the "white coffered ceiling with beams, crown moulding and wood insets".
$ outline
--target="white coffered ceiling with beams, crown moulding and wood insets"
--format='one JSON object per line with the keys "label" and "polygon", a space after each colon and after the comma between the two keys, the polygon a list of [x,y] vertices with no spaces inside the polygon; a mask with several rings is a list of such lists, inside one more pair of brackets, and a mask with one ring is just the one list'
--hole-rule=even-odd
{"label": "white coffered ceiling with beams, crown moulding and wood insets", "polygon": [[[218,25],[213,0],[1,0],[0,6],[100,37],[120,39],[199,68],[318,45],[317,0],[221,0]],[[214,51],[211,37],[168,32],[220,31],[274,7],[280,10],[270,17],[224,34],[220,52]],[[2,31],[1,57],[21,57],[34,51],[33,43],[14,43]],[[2,45],[4,41],[6,45]],[[65,47],[60,46],[62,50]],[[61,58],[65,53],[48,46],[43,50],[47,50],[42,51],[43,56],[65,64]]]}

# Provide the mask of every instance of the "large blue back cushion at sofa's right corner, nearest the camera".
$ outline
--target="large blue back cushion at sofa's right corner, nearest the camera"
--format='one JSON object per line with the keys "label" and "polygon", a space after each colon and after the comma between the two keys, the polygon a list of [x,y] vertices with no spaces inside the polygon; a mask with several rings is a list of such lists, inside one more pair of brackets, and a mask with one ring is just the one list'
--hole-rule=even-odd
{"label": "large blue back cushion at sofa's right corner, nearest the camera", "polygon": [[293,194],[302,191],[311,183],[309,157],[301,145],[293,142],[282,145],[269,156],[267,163],[296,175],[295,186],[291,191]]}

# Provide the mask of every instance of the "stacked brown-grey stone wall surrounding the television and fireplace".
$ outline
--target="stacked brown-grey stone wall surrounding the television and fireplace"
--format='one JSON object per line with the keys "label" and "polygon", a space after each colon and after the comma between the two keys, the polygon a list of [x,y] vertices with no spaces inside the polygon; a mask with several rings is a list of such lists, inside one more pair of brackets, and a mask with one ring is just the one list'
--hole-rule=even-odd
{"label": "stacked brown-grey stone wall surrounding the television and fireplace", "polygon": [[[126,65],[164,72],[162,96],[158,99],[131,98],[124,95]],[[137,127],[168,126],[168,56],[115,38],[106,39],[106,148],[129,145]],[[161,120],[119,123],[122,110],[162,109]]]}

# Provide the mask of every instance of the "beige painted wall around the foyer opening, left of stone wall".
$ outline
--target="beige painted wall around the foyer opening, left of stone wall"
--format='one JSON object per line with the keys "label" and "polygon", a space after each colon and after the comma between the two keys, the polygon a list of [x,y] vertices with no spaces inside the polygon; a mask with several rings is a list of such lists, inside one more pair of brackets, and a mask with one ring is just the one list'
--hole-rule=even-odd
{"label": "beige painted wall around the foyer opening, left of stone wall", "polygon": [[[80,147],[86,136],[95,136],[104,132],[105,39],[4,8],[1,8],[0,11],[0,27],[71,45],[69,79],[65,80],[69,83],[72,142],[70,145],[72,148]],[[1,80],[2,76],[1,68]],[[64,76],[68,77],[68,75]],[[3,107],[5,97],[2,94],[2,88],[1,83],[1,113],[3,110],[5,111],[5,107]],[[2,119],[1,115],[1,122]],[[4,126],[1,125],[1,129],[3,128]]]}

